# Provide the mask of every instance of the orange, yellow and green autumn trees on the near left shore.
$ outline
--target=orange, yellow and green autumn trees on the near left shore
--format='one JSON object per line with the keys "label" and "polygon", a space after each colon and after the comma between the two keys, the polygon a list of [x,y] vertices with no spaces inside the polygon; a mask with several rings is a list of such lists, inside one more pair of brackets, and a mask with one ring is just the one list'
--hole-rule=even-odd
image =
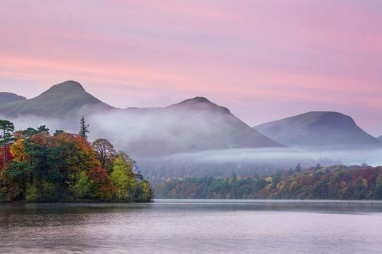
{"label": "orange, yellow and green autumn trees on the near left shore", "polygon": [[135,161],[106,139],[90,143],[88,127],[81,118],[79,134],[49,134],[0,120],[0,201],[151,201]]}

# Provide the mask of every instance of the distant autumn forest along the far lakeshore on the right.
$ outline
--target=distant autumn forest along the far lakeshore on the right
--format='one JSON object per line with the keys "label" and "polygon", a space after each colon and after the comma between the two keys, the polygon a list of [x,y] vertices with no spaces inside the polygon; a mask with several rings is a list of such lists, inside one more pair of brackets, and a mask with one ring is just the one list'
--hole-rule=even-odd
{"label": "distant autumn forest along the far lakeshore on the right", "polygon": [[162,199],[382,199],[382,167],[297,165],[269,176],[171,179],[153,191]]}

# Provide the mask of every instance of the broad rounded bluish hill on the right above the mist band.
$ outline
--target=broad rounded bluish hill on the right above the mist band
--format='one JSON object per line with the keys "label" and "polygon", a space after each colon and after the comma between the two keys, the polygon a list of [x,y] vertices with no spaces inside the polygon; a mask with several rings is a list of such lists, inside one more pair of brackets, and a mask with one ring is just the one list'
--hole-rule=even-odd
{"label": "broad rounded bluish hill on the right above the mist band", "polygon": [[313,111],[254,127],[277,142],[300,150],[376,149],[381,140],[367,134],[350,116]]}

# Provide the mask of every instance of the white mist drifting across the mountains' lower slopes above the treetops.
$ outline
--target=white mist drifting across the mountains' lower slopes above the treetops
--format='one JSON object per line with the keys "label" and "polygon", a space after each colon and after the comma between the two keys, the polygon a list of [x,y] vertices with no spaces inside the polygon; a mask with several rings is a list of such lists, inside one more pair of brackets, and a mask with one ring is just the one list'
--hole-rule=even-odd
{"label": "white mist drifting across the mountains' lower slopes above the treetops", "polygon": [[[8,118],[15,129],[46,125],[78,133],[84,111],[69,117]],[[231,172],[266,174],[321,165],[382,165],[381,149],[335,149],[306,152],[274,143],[221,108],[115,109],[84,114],[89,141],[106,138],[138,161],[149,180],[183,176],[226,176]],[[273,143],[272,143],[273,142]],[[274,145],[278,146],[274,146]],[[159,180],[158,180],[159,181]]]}

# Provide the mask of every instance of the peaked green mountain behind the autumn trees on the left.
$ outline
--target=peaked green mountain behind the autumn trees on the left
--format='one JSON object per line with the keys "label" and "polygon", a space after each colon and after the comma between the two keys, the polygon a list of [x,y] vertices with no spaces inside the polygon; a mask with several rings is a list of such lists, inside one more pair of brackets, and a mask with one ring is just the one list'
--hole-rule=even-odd
{"label": "peaked green mountain behind the autumn trees on the left", "polygon": [[91,111],[113,109],[75,81],[56,84],[40,96],[0,105],[0,114],[7,117],[42,116],[46,118],[76,117]]}

